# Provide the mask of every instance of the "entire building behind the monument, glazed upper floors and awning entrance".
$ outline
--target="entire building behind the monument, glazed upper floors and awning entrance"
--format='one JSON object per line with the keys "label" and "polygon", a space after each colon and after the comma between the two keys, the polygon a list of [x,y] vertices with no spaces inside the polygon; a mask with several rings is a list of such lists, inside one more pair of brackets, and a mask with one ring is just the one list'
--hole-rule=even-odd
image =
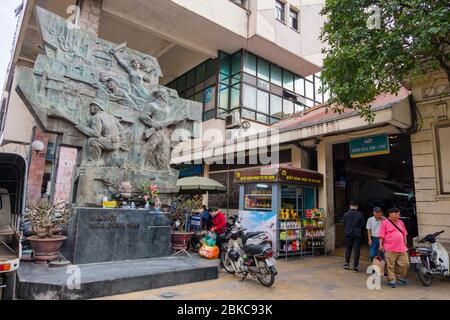
{"label": "entire building behind the monument, glazed upper floors and awning entrance", "polygon": [[[36,5],[156,57],[160,83],[202,104],[202,139],[181,143],[172,166],[181,177],[203,175],[227,186],[226,194],[210,195],[206,203],[235,214],[245,205],[236,172],[287,165],[323,177],[313,206],[326,214],[328,249],[343,242],[341,218],[349,200],[359,201],[366,216],[374,205],[400,206],[412,232],[416,219],[419,234],[442,227],[448,241],[450,152],[442,143],[448,136],[448,82],[431,75],[412,93],[379,97],[373,123],[354,112],[327,112],[327,94],[319,91],[321,1],[24,1],[0,128],[1,151],[30,162],[28,200],[72,200],[79,161],[77,149],[42,132],[14,89],[16,68],[32,67],[43,51]],[[44,145],[39,152],[32,151],[36,140]]]}

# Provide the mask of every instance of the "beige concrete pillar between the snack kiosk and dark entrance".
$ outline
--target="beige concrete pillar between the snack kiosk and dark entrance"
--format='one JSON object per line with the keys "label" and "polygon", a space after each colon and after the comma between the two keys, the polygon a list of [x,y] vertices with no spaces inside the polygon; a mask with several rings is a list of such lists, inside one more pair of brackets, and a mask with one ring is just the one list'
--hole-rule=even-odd
{"label": "beige concrete pillar between the snack kiosk and dark entrance", "polygon": [[319,207],[325,209],[327,250],[336,247],[334,225],[333,146],[321,141],[317,146],[317,167],[323,174],[323,187],[319,188]]}

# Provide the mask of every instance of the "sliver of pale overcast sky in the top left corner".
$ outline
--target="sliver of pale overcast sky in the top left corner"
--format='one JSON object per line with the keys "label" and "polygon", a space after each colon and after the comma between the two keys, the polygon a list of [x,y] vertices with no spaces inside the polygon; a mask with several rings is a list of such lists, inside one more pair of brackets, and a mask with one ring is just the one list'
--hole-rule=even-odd
{"label": "sliver of pale overcast sky in the top left corner", "polygon": [[17,19],[14,10],[21,2],[21,0],[0,0],[0,92],[4,89],[12,41],[16,31]]}

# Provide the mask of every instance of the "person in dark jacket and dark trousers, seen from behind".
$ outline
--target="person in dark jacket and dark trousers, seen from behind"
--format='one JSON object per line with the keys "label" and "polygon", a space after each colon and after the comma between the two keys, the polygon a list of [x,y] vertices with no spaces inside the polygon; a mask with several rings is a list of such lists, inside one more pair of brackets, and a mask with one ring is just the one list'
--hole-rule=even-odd
{"label": "person in dark jacket and dark trousers, seen from behind", "polygon": [[350,270],[350,258],[353,253],[353,271],[359,271],[359,256],[361,252],[362,230],[365,229],[364,215],[358,211],[358,204],[350,202],[350,210],[344,213],[345,233],[345,264],[344,269]]}

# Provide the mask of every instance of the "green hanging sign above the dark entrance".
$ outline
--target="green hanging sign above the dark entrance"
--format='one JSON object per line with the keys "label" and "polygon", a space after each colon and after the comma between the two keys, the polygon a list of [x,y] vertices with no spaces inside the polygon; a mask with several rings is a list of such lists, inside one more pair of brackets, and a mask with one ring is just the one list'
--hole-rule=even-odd
{"label": "green hanging sign above the dark entrance", "polygon": [[386,134],[353,139],[349,142],[350,157],[361,158],[389,154],[389,137]]}

